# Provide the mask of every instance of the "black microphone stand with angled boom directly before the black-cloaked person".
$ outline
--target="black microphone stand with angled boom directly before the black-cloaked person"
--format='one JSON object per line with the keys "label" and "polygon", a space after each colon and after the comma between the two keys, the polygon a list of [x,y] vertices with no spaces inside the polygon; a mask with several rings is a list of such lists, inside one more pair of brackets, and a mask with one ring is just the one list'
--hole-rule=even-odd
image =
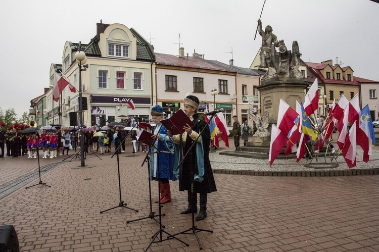
{"label": "black microphone stand with angled boom directly before the black-cloaked person", "polygon": [[[176,170],[179,169],[179,167],[183,164],[184,162],[184,159],[188,156],[188,154],[191,152],[191,149],[195,146],[195,144],[197,143],[198,139],[200,138],[200,136],[202,135],[203,131],[207,128],[207,126],[209,125],[210,121],[213,119],[214,117],[214,114],[211,115],[211,118],[209,119],[209,121],[206,123],[206,127],[203,128],[202,131],[200,131],[199,133],[199,136],[196,138],[196,140],[194,141],[194,143],[191,145],[191,147],[187,150],[186,154],[183,156],[182,160],[180,161],[179,165],[176,167]],[[208,126],[209,127],[209,126]],[[180,141],[181,141],[181,136],[180,136]],[[180,144],[182,147],[182,144]],[[200,229],[198,228],[196,225],[195,225],[195,204],[194,204],[194,198],[197,197],[195,191],[194,191],[194,178],[195,178],[195,166],[192,165],[192,171],[191,171],[191,205],[192,205],[192,227],[191,228],[188,228],[184,231],[181,231],[179,233],[176,233],[176,234],[173,234],[171,236],[169,236],[168,238],[170,237],[174,237],[178,234],[194,234],[195,237],[196,237],[196,240],[198,241],[198,244],[199,244],[199,248],[200,249],[203,249],[201,243],[200,243],[200,239],[199,239],[199,236],[197,235],[198,232],[201,232],[201,231],[205,231],[205,232],[210,232],[210,233],[213,233],[213,230],[207,230],[207,229]],[[190,232],[191,231],[191,232]],[[189,233],[188,233],[189,232]]]}

